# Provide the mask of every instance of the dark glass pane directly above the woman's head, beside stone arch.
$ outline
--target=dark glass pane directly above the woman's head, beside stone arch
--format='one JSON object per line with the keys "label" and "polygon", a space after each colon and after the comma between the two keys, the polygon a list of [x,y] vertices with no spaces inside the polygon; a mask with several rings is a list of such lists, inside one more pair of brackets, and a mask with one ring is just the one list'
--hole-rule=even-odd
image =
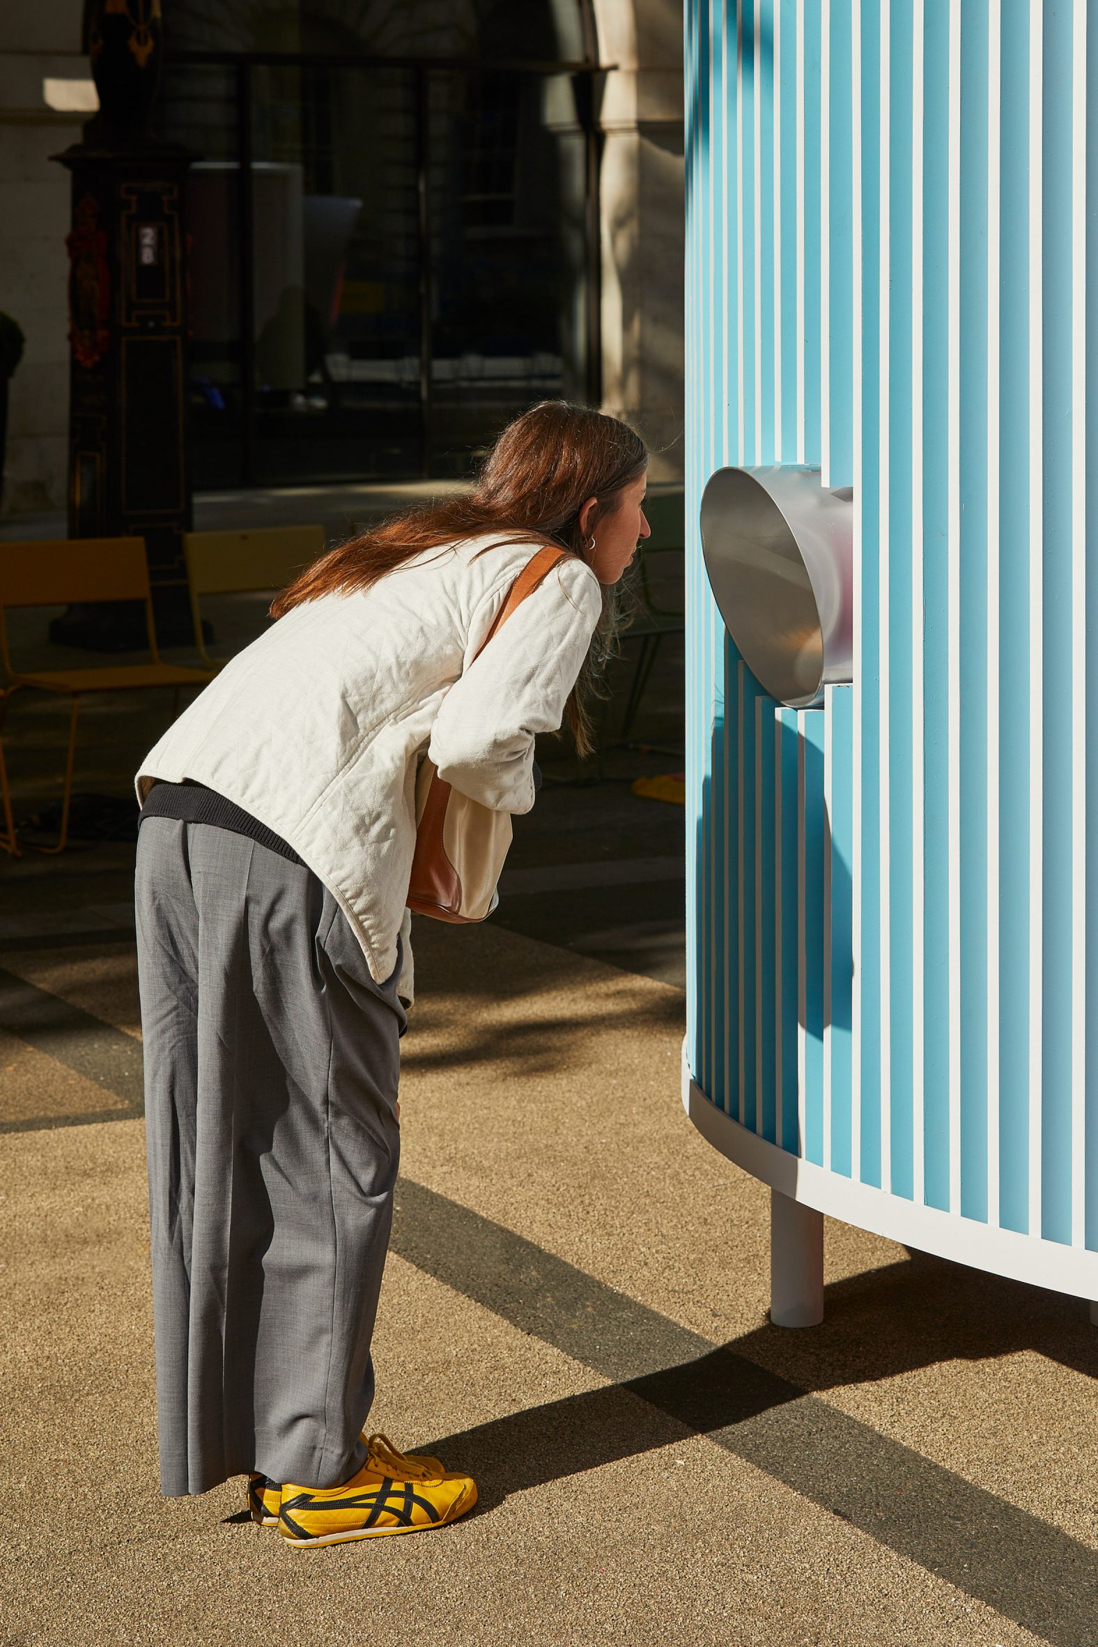
{"label": "dark glass pane directly above the woman's head, beside stone arch", "polygon": [[431,473],[584,399],[586,133],[571,76],[433,71]]}

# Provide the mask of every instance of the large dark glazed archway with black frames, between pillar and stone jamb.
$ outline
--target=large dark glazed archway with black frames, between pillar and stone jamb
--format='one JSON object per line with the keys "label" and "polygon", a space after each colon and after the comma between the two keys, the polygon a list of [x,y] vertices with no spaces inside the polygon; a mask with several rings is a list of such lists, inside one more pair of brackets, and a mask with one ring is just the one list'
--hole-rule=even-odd
{"label": "large dark glazed archway with black frames, between pillar and stone jamb", "polygon": [[598,399],[579,0],[176,0],[198,488],[453,474]]}

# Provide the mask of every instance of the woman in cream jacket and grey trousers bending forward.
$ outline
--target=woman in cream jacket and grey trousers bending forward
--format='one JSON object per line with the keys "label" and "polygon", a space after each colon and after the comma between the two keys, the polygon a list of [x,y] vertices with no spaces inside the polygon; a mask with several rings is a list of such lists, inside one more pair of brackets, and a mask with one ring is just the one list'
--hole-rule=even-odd
{"label": "woman in cream jacket and grey trousers bending forward", "polygon": [[[160,1471],[247,1472],[298,1547],[415,1532],[468,1476],[365,1436],[400,1155],[415,779],[533,805],[533,738],[568,718],[647,537],[630,428],[550,402],[471,497],[309,567],[137,779]],[[519,572],[568,550],[481,657]],[[476,659],[476,660],[474,660]]]}

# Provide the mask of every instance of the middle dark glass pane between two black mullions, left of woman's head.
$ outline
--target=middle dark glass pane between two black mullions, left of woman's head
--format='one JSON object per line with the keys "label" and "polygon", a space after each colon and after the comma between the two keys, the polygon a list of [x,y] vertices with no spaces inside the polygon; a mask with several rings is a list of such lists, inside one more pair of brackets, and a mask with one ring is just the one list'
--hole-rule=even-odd
{"label": "middle dark glass pane between two black mullions, left of woman's head", "polygon": [[257,478],[418,474],[415,74],[252,84]]}

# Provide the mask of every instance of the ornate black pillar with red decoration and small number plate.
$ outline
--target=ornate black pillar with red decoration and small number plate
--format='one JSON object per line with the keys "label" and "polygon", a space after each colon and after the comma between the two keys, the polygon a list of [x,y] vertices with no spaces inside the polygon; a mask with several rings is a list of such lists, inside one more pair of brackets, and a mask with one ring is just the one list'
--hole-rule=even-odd
{"label": "ornate black pillar with red decoration and small number plate", "polygon": [[[161,642],[189,639],[183,532],[186,455],[186,237],[194,158],[153,132],[160,0],[87,0],[84,46],[99,114],[54,158],[72,173],[69,247],[69,537],[143,537]],[[69,608],[58,641],[143,644],[127,608]]]}

